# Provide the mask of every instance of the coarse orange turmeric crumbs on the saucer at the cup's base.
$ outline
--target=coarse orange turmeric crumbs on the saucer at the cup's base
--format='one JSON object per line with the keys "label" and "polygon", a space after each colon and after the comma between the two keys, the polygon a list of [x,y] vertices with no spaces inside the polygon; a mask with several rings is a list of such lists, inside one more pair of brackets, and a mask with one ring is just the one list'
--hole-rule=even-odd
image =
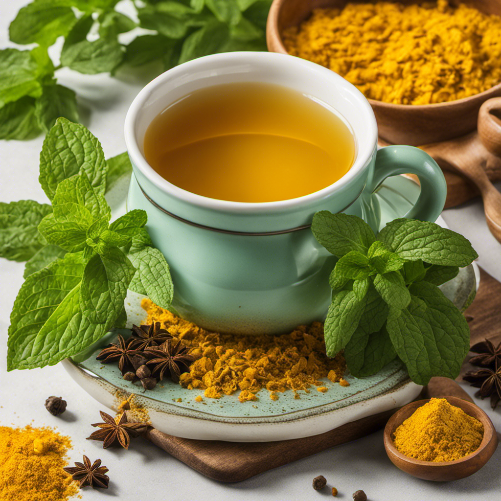
{"label": "coarse orange turmeric crumbs on the saucer at the cup's base", "polygon": [[239,391],[238,400],[255,401],[266,388],[270,398],[277,392],[309,392],[311,386],[324,386],[320,378],[339,382],[346,362],[341,353],[333,359],[325,354],[324,326],[314,322],[299,326],[281,336],[244,336],[208,332],[167,310],[143,299],[146,323],[160,322],[195,358],[190,372],[181,374],[180,384],[188,389],[203,389],[204,396],[220,398]]}

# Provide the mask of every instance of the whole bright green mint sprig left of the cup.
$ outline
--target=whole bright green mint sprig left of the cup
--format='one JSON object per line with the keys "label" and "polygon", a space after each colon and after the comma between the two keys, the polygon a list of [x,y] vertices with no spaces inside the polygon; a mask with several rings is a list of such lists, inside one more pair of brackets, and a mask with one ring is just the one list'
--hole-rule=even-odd
{"label": "whole bright green mint sprig left of the cup", "polygon": [[40,156],[52,206],[0,203],[0,256],[28,260],[11,314],[8,370],[56,364],[123,326],[129,285],[170,305],[169,267],[144,229],[146,213],[110,222],[107,182],[129,171],[125,154],[106,161],[84,126],[60,118]]}

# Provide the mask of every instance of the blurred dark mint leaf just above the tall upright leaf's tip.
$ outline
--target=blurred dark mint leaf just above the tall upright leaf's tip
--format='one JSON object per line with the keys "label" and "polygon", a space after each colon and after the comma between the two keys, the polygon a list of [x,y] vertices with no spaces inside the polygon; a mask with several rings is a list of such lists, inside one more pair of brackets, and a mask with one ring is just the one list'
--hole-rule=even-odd
{"label": "blurred dark mint leaf just above the tall upright leaf's tip", "polygon": [[75,92],[55,81],[43,86],[42,95],[36,100],[35,110],[38,123],[45,132],[49,132],[59,117],[78,122]]}

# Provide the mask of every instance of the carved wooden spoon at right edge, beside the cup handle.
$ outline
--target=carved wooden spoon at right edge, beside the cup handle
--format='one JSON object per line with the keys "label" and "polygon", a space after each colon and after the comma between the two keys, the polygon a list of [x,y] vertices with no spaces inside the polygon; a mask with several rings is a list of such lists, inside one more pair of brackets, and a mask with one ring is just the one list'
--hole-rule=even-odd
{"label": "carved wooden spoon at right edge, beside the cup handle", "polygon": [[421,146],[444,170],[456,171],[473,183],[483,198],[485,220],[501,242],[501,193],[486,169],[499,168],[501,157],[501,98],[485,101],[478,112],[477,132],[451,141]]}

